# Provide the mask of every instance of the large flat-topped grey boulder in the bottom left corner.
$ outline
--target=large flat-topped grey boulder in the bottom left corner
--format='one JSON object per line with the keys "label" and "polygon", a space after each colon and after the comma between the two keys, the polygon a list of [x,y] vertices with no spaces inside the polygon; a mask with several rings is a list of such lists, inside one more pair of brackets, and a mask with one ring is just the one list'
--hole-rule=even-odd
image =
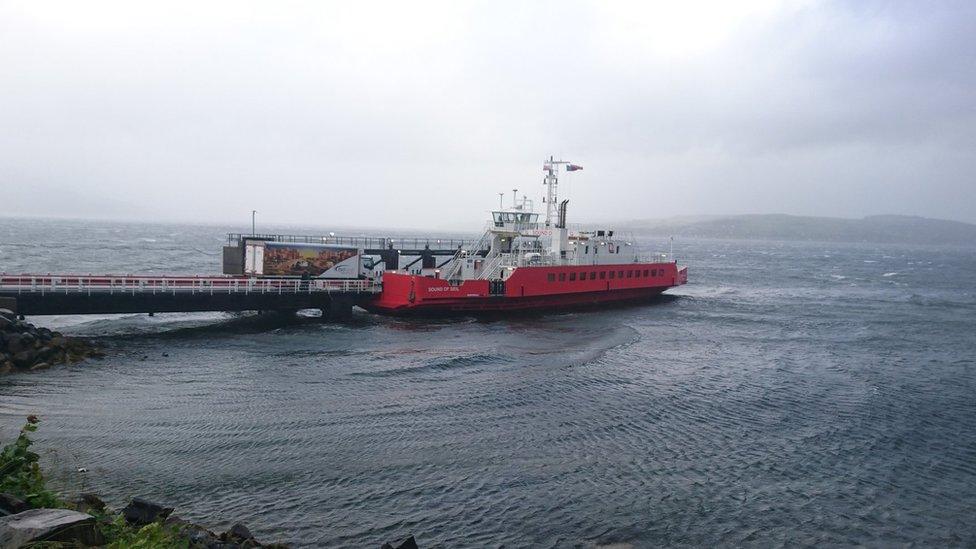
{"label": "large flat-topped grey boulder in the bottom left corner", "polygon": [[30,509],[0,517],[0,547],[23,547],[42,542],[102,545],[105,539],[95,517],[69,509]]}

